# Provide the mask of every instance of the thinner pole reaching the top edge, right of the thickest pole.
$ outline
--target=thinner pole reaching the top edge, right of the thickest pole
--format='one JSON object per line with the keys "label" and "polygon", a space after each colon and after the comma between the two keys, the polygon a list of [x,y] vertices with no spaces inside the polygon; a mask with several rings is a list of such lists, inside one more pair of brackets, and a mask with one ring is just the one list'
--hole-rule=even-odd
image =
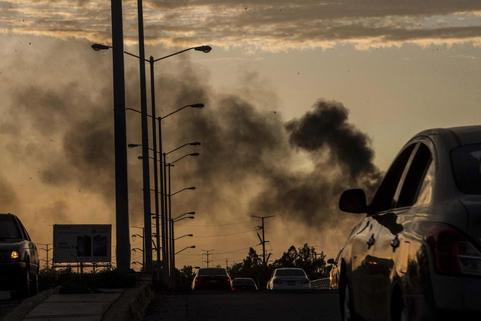
{"label": "thinner pole reaching the top edge, right of the thickest pole", "polygon": [[149,130],[147,124],[147,91],[145,86],[145,53],[144,53],[144,22],[142,14],[142,0],[137,0],[139,20],[139,64],[140,64],[140,118],[142,126],[142,177],[144,193],[144,255],[145,271],[152,272],[152,230],[150,208],[150,173],[149,173]]}

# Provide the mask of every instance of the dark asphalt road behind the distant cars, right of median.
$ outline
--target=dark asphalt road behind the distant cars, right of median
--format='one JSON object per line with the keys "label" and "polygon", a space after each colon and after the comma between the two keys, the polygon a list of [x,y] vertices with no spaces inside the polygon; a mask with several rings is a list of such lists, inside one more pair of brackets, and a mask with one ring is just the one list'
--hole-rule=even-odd
{"label": "dark asphalt road behind the distant cars, right of median", "polygon": [[156,294],[144,321],[340,321],[337,291]]}

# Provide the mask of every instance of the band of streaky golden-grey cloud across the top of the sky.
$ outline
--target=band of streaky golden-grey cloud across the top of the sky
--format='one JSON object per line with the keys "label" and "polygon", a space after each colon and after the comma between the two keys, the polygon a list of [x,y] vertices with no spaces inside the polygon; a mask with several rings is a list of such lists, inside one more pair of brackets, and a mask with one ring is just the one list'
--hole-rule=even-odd
{"label": "band of streaky golden-grey cloud across the top of the sky", "polygon": [[[55,8],[55,11],[52,11]],[[359,50],[405,43],[481,43],[475,0],[306,0],[292,3],[225,0],[145,1],[145,42],[175,48],[192,44],[278,52],[353,44]],[[135,1],[123,2],[126,45],[137,41]],[[434,18],[434,23],[430,21]],[[442,24],[439,25],[439,21]],[[3,2],[0,31],[61,39],[111,41],[110,4],[100,1]]]}

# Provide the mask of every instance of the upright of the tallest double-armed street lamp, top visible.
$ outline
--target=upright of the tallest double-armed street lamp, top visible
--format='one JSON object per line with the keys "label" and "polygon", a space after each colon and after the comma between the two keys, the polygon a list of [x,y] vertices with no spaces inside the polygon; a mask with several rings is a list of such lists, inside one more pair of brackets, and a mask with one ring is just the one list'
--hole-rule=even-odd
{"label": "upright of the tallest double-armed street lamp, top visible", "polygon": [[159,183],[157,180],[157,132],[155,130],[155,86],[154,86],[154,57],[150,56],[150,99],[152,102],[152,149],[154,152],[154,199],[155,199],[155,236],[157,249],[157,279],[160,280],[160,228],[159,228]]}

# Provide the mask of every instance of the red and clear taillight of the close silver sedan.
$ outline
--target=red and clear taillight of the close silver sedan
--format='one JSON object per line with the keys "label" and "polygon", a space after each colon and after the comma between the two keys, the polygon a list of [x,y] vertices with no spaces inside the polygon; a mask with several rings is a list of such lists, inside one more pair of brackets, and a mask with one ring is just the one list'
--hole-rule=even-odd
{"label": "red and clear taillight of the close silver sedan", "polygon": [[481,253],[458,229],[435,223],[425,232],[440,273],[481,274]]}

